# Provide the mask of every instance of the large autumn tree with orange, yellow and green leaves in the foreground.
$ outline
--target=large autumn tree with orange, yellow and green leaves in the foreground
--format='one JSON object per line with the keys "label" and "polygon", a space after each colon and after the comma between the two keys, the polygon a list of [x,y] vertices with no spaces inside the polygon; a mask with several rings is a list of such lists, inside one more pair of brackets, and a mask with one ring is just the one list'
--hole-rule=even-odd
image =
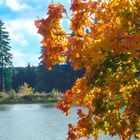
{"label": "large autumn tree with orange, yellow and green leaves in the foreground", "polygon": [[[35,21],[45,48],[44,60],[66,61],[74,70],[86,69],[58,102],[65,115],[77,110],[68,140],[98,139],[98,134],[122,140],[140,138],[140,0],[71,0],[71,15],[61,4],[50,4],[47,17]],[[70,31],[61,20],[70,20]]]}

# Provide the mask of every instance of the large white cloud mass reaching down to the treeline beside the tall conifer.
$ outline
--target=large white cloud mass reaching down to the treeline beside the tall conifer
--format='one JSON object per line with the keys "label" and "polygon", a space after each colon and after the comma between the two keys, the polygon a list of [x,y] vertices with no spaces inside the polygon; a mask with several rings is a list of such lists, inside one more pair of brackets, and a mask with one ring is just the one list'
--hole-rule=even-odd
{"label": "large white cloud mass reaching down to the treeline beside the tall conifer", "polygon": [[[40,36],[37,34],[34,21],[31,19],[7,20],[5,25],[11,39],[13,65],[27,66],[28,63],[31,65],[37,65],[39,63],[39,50],[38,52],[31,51],[31,48],[37,50],[40,47],[38,46]],[[38,40],[36,46],[32,46],[34,43],[33,39],[35,41]]]}

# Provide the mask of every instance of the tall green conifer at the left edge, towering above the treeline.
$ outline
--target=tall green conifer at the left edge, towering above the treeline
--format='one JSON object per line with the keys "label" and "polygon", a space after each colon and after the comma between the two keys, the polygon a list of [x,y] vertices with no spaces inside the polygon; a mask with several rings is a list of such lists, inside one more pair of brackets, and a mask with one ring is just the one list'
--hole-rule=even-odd
{"label": "tall green conifer at the left edge, towering above the treeline", "polygon": [[11,81],[12,54],[9,41],[9,33],[0,19],[0,90],[3,92],[11,85],[9,81]]}

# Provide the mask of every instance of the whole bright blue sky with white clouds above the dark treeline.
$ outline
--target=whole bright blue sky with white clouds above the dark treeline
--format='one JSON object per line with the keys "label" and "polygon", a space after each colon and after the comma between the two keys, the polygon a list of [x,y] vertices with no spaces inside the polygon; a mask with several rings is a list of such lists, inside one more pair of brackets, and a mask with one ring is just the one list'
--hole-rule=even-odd
{"label": "whole bright blue sky with white clouds above the dark treeline", "polygon": [[[41,36],[34,20],[44,17],[52,0],[0,0],[0,18],[9,31],[14,66],[38,65]],[[69,8],[70,0],[53,0]],[[62,21],[67,28],[68,21]]]}

